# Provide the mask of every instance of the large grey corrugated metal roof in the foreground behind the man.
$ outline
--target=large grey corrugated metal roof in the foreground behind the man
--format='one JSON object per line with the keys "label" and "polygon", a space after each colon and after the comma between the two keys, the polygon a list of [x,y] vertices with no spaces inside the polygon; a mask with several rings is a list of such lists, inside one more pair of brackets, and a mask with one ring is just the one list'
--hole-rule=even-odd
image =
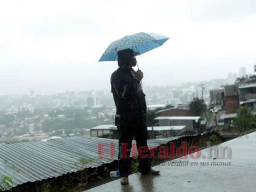
{"label": "large grey corrugated metal roof in the foreground behind the man", "polygon": [[[148,146],[159,146],[180,137],[148,140]],[[108,144],[104,148],[110,153],[110,142],[114,143],[115,158],[98,158],[98,144]],[[28,181],[34,182],[77,172],[81,168],[95,168],[104,163],[111,163],[117,156],[118,140],[88,136],[0,144],[0,177],[11,176],[15,187]],[[81,158],[85,158],[87,162],[82,163]]]}

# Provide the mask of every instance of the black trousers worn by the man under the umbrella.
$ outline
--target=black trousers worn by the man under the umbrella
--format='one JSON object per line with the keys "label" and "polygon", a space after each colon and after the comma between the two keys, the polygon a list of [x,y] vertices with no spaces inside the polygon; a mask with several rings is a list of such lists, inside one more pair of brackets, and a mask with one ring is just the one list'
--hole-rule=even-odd
{"label": "black trousers worn by the man under the umbrella", "polygon": [[[128,175],[131,173],[130,149],[132,148],[133,138],[135,138],[137,149],[139,149],[141,146],[144,146],[144,149],[141,150],[141,154],[143,156],[138,156],[138,171],[141,173],[148,172],[151,168],[151,163],[149,159],[150,152],[147,146],[146,123],[144,123],[141,118],[132,117],[129,115],[121,115],[120,125],[121,126],[117,126],[119,132],[118,159],[120,176],[128,177]],[[126,154],[123,154],[123,150],[125,150],[123,149],[123,144],[126,145]]]}

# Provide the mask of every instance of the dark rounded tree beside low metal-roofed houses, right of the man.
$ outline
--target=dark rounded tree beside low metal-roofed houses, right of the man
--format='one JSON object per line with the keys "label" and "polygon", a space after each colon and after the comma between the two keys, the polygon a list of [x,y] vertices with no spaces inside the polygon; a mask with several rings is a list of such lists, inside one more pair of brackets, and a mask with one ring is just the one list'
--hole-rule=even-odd
{"label": "dark rounded tree beside low metal-roofed houses, right of the man", "polygon": [[206,104],[203,99],[194,98],[189,104],[191,116],[203,116],[206,112]]}

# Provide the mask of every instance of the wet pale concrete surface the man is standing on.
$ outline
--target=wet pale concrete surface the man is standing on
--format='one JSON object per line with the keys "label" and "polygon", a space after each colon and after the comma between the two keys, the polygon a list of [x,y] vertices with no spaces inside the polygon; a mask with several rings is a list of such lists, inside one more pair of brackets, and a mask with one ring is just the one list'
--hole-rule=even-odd
{"label": "wet pale concrete surface the man is standing on", "polygon": [[135,173],[127,185],[119,179],[86,192],[256,192],[256,132],[218,145],[219,156],[221,147],[226,147],[223,157],[216,158],[214,148],[211,154],[207,148],[198,158],[188,156],[155,166],[159,175]]}

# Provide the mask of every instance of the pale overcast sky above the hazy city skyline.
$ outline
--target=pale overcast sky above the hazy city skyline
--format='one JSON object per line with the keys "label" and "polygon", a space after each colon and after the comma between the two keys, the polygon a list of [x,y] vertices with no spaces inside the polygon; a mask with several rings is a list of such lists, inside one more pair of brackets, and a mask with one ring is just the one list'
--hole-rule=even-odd
{"label": "pale overcast sky above the hazy city skyline", "polygon": [[0,95],[110,90],[98,60],[138,32],[170,37],[137,57],[145,85],[254,74],[256,0],[1,0]]}

